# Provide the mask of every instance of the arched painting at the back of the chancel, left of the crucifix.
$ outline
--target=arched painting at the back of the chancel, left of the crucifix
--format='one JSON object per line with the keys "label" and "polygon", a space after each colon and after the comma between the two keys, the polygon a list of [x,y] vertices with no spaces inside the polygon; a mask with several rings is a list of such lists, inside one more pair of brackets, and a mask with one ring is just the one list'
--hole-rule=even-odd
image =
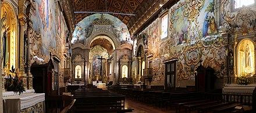
{"label": "arched painting at the back of the chancel, left of the crucifix", "polygon": [[101,60],[99,60],[98,58],[100,58],[101,56],[99,56],[98,54],[96,54],[95,56],[93,56],[93,75],[100,75],[100,71],[101,71]]}

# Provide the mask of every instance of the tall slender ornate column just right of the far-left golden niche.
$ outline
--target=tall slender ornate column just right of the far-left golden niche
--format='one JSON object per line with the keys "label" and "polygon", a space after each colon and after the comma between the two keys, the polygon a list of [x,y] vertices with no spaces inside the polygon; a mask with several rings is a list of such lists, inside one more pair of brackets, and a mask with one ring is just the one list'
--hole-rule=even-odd
{"label": "tall slender ornate column just right of the far-left golden niche", "polygon": [[[19,64],[19,78],[22,79],[23,81],[27,81],[27,74],[26,70],[24,68],[25,64],[25,56],[26,54],[26,46],[27,43],[25,42],[26,39],[24,39],[24,31],[26,31],[26,18],[27,16],[23,14],[19,14],[19,22],[20,22],[20,64]],[[24,41],[25,40],[25,41]],[[25,52],[24,52],[25,50]],[[24,88],[27,89],[27,82],[23,82]]]}

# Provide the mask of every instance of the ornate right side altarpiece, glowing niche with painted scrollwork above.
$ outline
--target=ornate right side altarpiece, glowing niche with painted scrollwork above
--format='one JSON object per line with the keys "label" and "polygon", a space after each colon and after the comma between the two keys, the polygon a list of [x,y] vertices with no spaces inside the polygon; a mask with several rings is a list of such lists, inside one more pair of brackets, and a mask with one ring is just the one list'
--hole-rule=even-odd
{"label": "ornate right side altarpiece, glowing niche with painted scrollwork above", "polygon": [[[233,2],[225,0],[221,2],[221,27],[224,37],[229,38],[229,50],[234,51],[230,55],[229,63],[232,83],[236,83],[236,77],[241,75],[255,75],[255,6],[242,6],[233,9]],[[255,80],[249,78],[251,82]]]}

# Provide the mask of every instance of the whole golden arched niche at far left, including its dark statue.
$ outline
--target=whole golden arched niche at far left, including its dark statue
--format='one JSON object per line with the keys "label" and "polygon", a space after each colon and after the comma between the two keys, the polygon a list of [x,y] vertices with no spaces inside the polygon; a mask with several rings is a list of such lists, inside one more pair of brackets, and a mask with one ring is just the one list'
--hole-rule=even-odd
{"label": "whole golden arched niche at far left, including its dark statue", "polygon": [[[2,2],[1,7],[1,42],[2,42],[2,70],[9,71],[10,68],[17,68],[17,18],[15,11],[8,2]],[[5,68],[5,69],[4,69]]]}

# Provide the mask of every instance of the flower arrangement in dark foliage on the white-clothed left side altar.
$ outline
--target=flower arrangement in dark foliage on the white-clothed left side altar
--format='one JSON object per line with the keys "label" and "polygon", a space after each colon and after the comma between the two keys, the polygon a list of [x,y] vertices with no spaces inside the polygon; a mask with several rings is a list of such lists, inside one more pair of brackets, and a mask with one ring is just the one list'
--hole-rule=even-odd
{"label": "flower arrangement in dark foliage on the white-clothed left side altar", "polygon": [[13,66],[10,74],[5,75],[5,89],[6,91],[13,91],[15,93],[19,92],[19,94],[25,92],[23,81],[19,79]]}

